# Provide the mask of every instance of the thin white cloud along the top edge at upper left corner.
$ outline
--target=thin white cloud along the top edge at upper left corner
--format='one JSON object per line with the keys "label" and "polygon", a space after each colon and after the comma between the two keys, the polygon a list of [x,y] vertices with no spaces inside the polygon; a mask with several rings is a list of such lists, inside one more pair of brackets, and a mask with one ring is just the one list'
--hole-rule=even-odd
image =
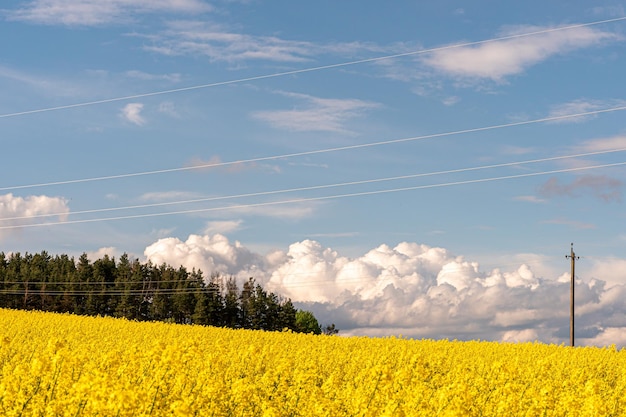
{"label": "thin white cloud along the top edge at upper left corner", "polygon": [[94,26],[128,23],[142,13],[202,13],[201,0],[33,0],[9,12],[9,18],[31,23]]}

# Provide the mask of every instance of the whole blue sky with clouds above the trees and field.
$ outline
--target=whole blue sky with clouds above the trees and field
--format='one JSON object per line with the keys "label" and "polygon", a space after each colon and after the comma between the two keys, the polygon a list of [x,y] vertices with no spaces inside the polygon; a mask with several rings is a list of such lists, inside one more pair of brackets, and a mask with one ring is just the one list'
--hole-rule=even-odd
{"label": "whole blue sky with clouds above the trees and field", "polygon": [[[626,344],[622,2],[0,9],[0,250],[245,278],[344,334]],[[304,307],[303,307],[304,308]]]}

